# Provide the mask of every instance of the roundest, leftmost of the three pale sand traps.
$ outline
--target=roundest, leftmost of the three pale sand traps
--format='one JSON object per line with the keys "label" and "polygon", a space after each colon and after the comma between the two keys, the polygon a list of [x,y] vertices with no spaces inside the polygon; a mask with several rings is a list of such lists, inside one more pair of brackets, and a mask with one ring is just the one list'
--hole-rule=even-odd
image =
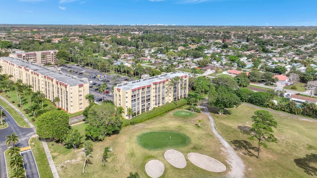
{"label": "roundest, leftmost of the three pale sand traps", "polygon": [[159,160],[151,160],[145,165],[145,171],[151,178],[159,178],[164,173],[164,164]]}

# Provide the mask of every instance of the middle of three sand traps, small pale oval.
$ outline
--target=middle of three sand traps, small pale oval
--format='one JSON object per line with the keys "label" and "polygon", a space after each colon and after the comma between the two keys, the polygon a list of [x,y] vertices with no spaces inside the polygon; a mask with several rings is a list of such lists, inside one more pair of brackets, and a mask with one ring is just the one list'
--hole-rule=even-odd
{"label": "middle of three sand traps, small pale oval", "polygon": [[175,168],[185,168],[187,165],[183,153],[174,149],[166,150],[164,153],[164,158],[169,164],[171,164]]}

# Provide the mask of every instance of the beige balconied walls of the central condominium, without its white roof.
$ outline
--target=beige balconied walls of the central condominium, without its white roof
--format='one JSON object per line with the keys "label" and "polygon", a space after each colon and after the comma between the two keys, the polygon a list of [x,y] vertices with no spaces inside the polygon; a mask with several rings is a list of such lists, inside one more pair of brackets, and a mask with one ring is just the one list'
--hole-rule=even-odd
{"label": "beige balconied walls of the central condominium, without its white roof", "polygon": [[135,115],[153,110],[154,107],[188,96],[188,76],[181,76],[181,80],[174,87],[170,79],[149,83],[138,88],[127,90],[114,87],[113,102],[124,109],[123,117],[129,119],[127,109],[131,108]]}

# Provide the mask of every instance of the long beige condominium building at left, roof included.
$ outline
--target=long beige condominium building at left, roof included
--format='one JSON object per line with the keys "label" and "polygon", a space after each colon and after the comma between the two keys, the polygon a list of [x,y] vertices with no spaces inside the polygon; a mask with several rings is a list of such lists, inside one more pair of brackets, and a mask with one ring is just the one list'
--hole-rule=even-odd
{"label": "long beige condominium building at left, roof included", "polygon": [[14,82],[21,79],[24,84],[31,85],[34,92],[43,92],[52,102],[54,97],[59,97],[57,106],[68,113],[82,111],[89,105],[89,101],[85,99],[89,93],[87,79],[78,79],[66,73],[11,57],[0,57],[0,65],[2,74],[12,75],[11,80]]}

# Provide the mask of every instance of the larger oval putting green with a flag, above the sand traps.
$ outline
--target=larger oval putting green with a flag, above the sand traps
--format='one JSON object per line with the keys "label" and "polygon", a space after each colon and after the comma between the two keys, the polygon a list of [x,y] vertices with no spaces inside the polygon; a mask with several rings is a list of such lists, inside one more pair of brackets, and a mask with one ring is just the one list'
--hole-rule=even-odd
{"label": "larger oval putting green with a flag, above the sand traps", "polygon": [[143,133],[139,135],[138,141],[147,149],[176,148],[187,145],[190,138],[185,134],[162,131]]}

